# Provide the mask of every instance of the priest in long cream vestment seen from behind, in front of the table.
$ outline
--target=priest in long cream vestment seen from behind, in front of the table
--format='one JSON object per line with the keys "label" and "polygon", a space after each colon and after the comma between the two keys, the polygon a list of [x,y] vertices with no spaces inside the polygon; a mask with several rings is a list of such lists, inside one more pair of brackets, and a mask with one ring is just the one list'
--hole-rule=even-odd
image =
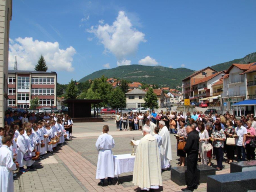
{"label": "priest in long cream vestment seen from behind, in front of the table", "polygon": [[161,163],[157,140],[150,127],[143,126],[143,138],[136,149],[133,183],[142,190],[158,189],[162,186]]}

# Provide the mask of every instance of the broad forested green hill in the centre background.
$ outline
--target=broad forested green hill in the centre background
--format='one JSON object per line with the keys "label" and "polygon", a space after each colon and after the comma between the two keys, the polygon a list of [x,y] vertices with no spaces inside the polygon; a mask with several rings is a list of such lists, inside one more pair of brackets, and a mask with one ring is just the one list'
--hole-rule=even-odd
{"label": "broad forested green hill in the centre background", "polygon": [[177,86],[181,87],[182,79],[194,72],[195,71],[186,68],[172,69],[162,66],[119,66],[113,69],[96,71],[83,77],[78,82],[99,78],[104,75],[106,77],[115,77],[128,81],[138,81],[146,84],[158,84],[163,87],[176,88]]}

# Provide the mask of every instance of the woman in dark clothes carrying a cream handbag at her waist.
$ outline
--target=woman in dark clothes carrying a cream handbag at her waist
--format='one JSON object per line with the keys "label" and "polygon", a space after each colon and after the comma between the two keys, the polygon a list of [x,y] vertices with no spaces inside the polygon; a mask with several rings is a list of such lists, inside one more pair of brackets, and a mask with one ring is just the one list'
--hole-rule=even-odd
{"label": "woman in dark clothes carrying a cream handbag at her waist", "polygon": [[[233,122],[227,121],[226,122],[227,128],[224,130],[224,133],[226,135],[226,139],[229,137],[233,137],[234,135],[234,128],[233,128]],[[226,151],[227,151],[227,161],[226,163],[230,164],[234,162],[234,146],[233,145],[226,145]]]}

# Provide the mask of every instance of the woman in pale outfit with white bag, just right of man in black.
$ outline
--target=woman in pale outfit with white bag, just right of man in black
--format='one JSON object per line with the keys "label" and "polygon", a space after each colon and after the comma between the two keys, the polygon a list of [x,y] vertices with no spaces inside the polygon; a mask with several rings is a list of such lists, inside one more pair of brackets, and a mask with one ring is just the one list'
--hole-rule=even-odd
{"label": "woman in pale outfit with white bag, just right of man in black", "polygon": [[202,121],[198,123],[198,129],[199,129],[199,137],[200,137],[199,154],[200,154],[202,164],[207,165],[207,151],[204,150],[204,145],[206,144],[206,141],[209,139],[209,135]]}

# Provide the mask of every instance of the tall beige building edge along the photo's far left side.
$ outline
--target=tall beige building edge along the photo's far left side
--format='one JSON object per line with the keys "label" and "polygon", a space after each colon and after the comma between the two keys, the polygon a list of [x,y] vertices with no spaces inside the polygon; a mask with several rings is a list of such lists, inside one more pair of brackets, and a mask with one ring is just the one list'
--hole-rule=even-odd
{"label": "tall beige building edge along the photo's far left side", "polygon": [[9,31],[12,19],[12,0],[0,0],[0,126],[4,126],[7,109],[7,80],[9,57]]}

